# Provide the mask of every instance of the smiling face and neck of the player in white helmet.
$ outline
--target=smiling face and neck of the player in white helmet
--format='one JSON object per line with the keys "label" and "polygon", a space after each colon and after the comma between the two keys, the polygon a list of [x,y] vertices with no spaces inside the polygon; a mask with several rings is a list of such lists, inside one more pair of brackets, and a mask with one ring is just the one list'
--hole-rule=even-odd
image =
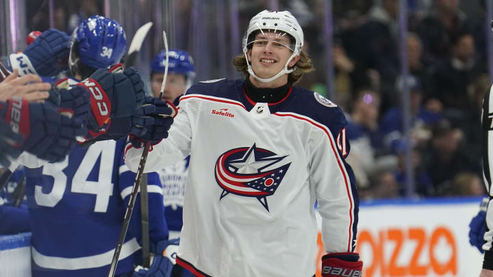
{"label": "smiling face and neck of the player in white helmet", "polygon": [[[255,75],[264,79],[277,75],[286,66],[286,62],[293,53],[288,48],[290,44],[290,37],[286,34],[274,32],[257,34],[251,49],[247,50],[247,57]],[[293,67],[298,60],[299,55],[290,61],[288,68]],[[257,81],[253,76],[250,76],[250,81],[258,88],[278,88],[288,82],[288,74],[269,83]]]}

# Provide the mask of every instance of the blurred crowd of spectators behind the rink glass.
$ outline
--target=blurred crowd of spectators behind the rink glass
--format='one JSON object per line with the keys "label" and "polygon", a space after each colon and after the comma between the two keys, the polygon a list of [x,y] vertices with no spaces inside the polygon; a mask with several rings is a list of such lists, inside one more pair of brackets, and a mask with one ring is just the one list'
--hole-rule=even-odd
{"label": "blurred crowd of spectators behind the rink glass", "polygon": [[[289,10],[303,27],[304,47],[316,67],[296,85],[331,98],[346,112],[348,161],[362,199],[485,194],[481,106],[492,83],[488,63],[492,57],[488,5],[492,4],[485,0],[18,3],[25,3],[16,11],[25,16],[12,18],[15,13],[10,12],[11,20],[22,21],[16,34],[10,28],[12,41],[49,27],[71,34],[79,21],[92,14],[119,21],[130,41],[140,25],[153,21],[138,69],[148,74],[149,61],[163,47],[164,29],[170,47],[192,53],[197,81],[241,77],[231,59],[242,51],[249,18],[264,9]],[[404,33],[399,3],[407,3]],[[21,43],[13,49],[3,47],[0,55],[23,47]],[[406,71],[409,74],[403,75]],[[407,176],[413,183],[411,192]]]}

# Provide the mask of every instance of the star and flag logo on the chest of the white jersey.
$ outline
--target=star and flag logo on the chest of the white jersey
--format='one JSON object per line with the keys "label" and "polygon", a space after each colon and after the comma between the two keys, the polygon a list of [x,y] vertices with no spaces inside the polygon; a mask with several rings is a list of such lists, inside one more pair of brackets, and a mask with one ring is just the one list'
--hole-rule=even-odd
{"label": "star and flag logo on the chest of the white jersey", "polygon": [[216,181],[223,189],[220,200],[228,194],[257,198],[268,211],[267,196],[275,194],[291,163],[281,161],[270,150],[251,147],[226,151],[216,161]]}

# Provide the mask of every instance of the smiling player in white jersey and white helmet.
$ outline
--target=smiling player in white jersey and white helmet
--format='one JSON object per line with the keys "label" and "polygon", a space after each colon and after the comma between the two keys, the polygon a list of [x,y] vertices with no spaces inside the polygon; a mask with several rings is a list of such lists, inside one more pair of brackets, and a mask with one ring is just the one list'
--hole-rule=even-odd
{"label": "smiling player in white jersey and white helmet", "polygon": [[[254,16],[235,58],[246,79],[200,82],[179,103],[144,171],[190,155],[177,263],[196,276],[361,276],[353,252],[359,200],[341,109],[293,86],[312,69],[290,12]],[[148,140],[149,141],[149,140]],[[125,162],[136,171],[142,143]]]}

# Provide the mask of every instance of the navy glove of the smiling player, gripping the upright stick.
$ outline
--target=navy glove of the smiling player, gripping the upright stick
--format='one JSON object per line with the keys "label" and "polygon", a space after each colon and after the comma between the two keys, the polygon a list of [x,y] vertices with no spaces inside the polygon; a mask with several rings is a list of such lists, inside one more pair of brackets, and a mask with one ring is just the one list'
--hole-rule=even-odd
{"label": "navy glove of the smiling player, gripping the upright stick", "polygon": [[168,131],[173,124],[173,118],[178,112],[178,109],[173,103],[163,101],[159,98],[146,97],[144,103],[155,105],[155,112],[148,114],[148,116],[154,118],[155,122],[153,125],[146,126],[147,132],[144,135],[129,135],[129,141],[135,148],[144,147],[146,142],[155,145],[168,137]]}

